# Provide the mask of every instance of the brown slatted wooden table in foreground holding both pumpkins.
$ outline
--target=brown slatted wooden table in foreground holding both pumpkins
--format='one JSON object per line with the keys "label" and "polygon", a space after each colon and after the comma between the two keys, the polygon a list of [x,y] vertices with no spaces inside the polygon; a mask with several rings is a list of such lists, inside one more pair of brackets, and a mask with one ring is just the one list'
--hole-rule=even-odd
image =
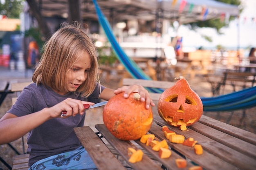
{"label": "brown slatted wooden table in foreground holding both pumpkins", "polygon": [[[187,159],[186,169],[193,166],[192,161],[206,170],[254,170],[256,167],[256,134],[254,133],[207,116],[202,116],[198,122],[189,126],[187,131],[181,131],[166,124],[159,116],[155,116],[149,133],[155,134],[159,141],[166,139],[162,132],[162,126],[168,126],[170,130],[184,135],[185,138],[193,137],[198,144],[202,145],[203,154],[196,155],[191,147],[168,142],[169,147],[172,148],[172,155],[169,158],[161,159],[158,152],[153,151],[150,146],[140,143],[139,140],[122,141],[117,139],[106,129],[104,124],[95,125],[99,131],[98,135],[102,135],[104,142],[89,126],[77,127],[74,128],[74,131],[99,170],[127,168],[113,154],[115,152],[121,155],[128,166],[134,170],[160,170],[161,165],[168,169],[180,170],[175,165],[176,158]],[[114,152],[112,151],[112,153],[107,146],[112,146]],[[129,163],[128,147],[142,148],[144,151],[142,161]]]}

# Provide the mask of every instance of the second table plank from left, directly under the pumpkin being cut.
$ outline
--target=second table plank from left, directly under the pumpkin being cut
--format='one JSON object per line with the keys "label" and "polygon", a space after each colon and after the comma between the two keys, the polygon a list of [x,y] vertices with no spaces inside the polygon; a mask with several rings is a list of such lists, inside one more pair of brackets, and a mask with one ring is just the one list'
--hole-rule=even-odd
{"label": "second table plank from left, directly under the pumpkin being cut", "polygon": [[103,137],[108,141],[108,143],[117,150],[117,152],[125,159],[125,161],[129,164],[129,166],[133,170],[162,170],[159,165],[157,165],[152,159],[150,159],[147,155],[143,155],[141,161],[136,163],[130,163],[129,156],[128,156],[128,148],[135,148],[138,149],[134,144],[130,141],[124,141],[117,139],[114,137],[110,131],[106,128],[104,124],[97,124],[95,128],[101,133]]}

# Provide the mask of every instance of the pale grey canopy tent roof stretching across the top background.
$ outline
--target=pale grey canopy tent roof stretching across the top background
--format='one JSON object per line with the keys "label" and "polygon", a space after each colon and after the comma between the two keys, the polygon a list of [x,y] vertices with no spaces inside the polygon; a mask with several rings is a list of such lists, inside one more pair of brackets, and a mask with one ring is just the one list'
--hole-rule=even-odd
{"label": "pale grey canopy tent roof stretching across the top background", "polygon": [[[239,15],[236,5],[215,0],[97,0],[97,2],[102,13],[109,20],[116,21],[155,20],[159,16],[159,11],[161,11],[159,17],[170,21],[178,20],[185,24],[202,20],[203,10],[207,11],[206,20],[219,18],[223,13],[230,16]],[[70,8],[68,0],[36,0],[36,3],[45,17],[68,17]],[[82,19],[97,20],[92,0],[73,0],[70,3],[80,3],[79,12]]]}

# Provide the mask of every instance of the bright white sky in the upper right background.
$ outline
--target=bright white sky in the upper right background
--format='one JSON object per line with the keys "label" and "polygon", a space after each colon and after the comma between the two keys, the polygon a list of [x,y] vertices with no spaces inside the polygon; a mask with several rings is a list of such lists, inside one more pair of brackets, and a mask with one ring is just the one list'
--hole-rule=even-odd
{"label": "bright white sky in the upper right background", "polygon": [[[244,10],[240,13],[239,29],[238,19],[231,21],[228,28],[221,28],[223,35],[218,35],[213,28],[200,28],[196,33],[183,26],[180,28],[183,35],[182,45],[197,48],[214,48],[221,45],[229,49],[256,47],[256,0],[242,0],[242,5]],[[202,34],[211,37],[213,41],[206,41],[201,37]]]}

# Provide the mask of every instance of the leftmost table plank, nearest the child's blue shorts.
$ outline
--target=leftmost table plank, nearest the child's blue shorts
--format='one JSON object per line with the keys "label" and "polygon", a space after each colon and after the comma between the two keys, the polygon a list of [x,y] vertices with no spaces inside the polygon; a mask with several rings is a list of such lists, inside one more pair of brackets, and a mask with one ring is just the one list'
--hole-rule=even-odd
{"label": "leftmost table plank, nearest the child's blue shorts", "polygon": [[76,127],[74,132],[99,170],[126,170],[89,126]]}

